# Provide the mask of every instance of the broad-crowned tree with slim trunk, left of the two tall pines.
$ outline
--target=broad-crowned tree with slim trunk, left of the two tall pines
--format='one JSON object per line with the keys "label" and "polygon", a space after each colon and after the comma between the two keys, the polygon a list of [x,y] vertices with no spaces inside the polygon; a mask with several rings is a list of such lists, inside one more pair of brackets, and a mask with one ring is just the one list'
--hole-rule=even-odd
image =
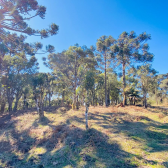
{"label": "broad-crowned tree with slim trunk, left of the two tall pines", "polygon": [[73,90],[73,106],[76,108],[76,89],[83,80],[84,70],[95,65],[93,52],[86,47],[71,46],[62,53],[48,56],[50,67],[64,76]]}

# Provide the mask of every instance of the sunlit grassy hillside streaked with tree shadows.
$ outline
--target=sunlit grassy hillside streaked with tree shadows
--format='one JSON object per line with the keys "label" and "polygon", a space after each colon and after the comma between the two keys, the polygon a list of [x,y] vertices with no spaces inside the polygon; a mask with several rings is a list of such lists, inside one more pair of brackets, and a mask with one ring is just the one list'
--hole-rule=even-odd
{"label": "sunlit grassy hillside streaked with tree shadows", "polygon": [[168,167],[168,110],[61,107],[0,117],[0,167]]}

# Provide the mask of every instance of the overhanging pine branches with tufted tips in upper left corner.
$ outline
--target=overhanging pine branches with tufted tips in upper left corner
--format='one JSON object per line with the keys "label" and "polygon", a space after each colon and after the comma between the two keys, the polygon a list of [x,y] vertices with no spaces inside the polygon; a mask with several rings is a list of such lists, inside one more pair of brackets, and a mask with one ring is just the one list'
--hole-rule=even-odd
{"label": "overhanging pine branches with tufted tips in upper left corner", "polygon": [[[34,13],[34,14],[33,14]],[[0,1],[0,71],[4,53],[9,50],[17,52],[18,47],[9,47],[7,42],[22,42],[25,37],[21,35],[20,39],[11,36],[9,31],[19,32],[26,35],[41,36],[41,38],[49,37],[58,33],[59,27],[56,24],[51,24],[48,29],[35,30],[28,26],[27,21],[39,16],[44,19],[46,7],[38,4],[37,0],[1,0]],[[33,14],[33,15],[32,15]],[[16,44],[17,45],[17,44]],[[36,45],[42,47],[42,44]],[[27,48],[27,46],[24,46]],[[48,45],[47,51],[51,52],[54,47]],[[15,53],[16,54],[16,53]]]}

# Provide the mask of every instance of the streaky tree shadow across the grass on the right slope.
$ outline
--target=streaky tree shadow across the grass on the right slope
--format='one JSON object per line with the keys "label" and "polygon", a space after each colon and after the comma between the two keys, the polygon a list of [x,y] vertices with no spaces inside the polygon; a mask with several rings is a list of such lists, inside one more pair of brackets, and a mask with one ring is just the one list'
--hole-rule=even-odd
{"label": "streaky tree shadow across the grass on the right slope", "polygon": [[[168,124],[156,122],[145,116],[133,116],[127,113],[92,114],[92,120],[99,117],[99,125],[112,129],[115,133],[122,132],[128,138],[146,143],[149,152],[168,150]],[[102,118],[102,119],[100,119]]]}

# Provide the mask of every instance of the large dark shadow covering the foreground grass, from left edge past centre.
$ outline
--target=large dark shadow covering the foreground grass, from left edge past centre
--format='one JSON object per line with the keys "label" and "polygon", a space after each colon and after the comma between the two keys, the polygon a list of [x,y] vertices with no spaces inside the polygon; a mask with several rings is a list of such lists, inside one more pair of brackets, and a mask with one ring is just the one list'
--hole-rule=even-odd
{"label": "large dark shadow covering the foreground grass, from left edge past centre", "polygon": [[[14,125],[13,125],[14,126]],[[32,138],[30,130],[18,133],[14,127],[6,141],[0,143],[1,167],[137,167],[130,154],[115,141],[95,129],[82,130],[74,125],[50,125],[52,133]],[[14,140],[11,143],[11,140]],[[32,152],[40,149],[41,153]]]}

